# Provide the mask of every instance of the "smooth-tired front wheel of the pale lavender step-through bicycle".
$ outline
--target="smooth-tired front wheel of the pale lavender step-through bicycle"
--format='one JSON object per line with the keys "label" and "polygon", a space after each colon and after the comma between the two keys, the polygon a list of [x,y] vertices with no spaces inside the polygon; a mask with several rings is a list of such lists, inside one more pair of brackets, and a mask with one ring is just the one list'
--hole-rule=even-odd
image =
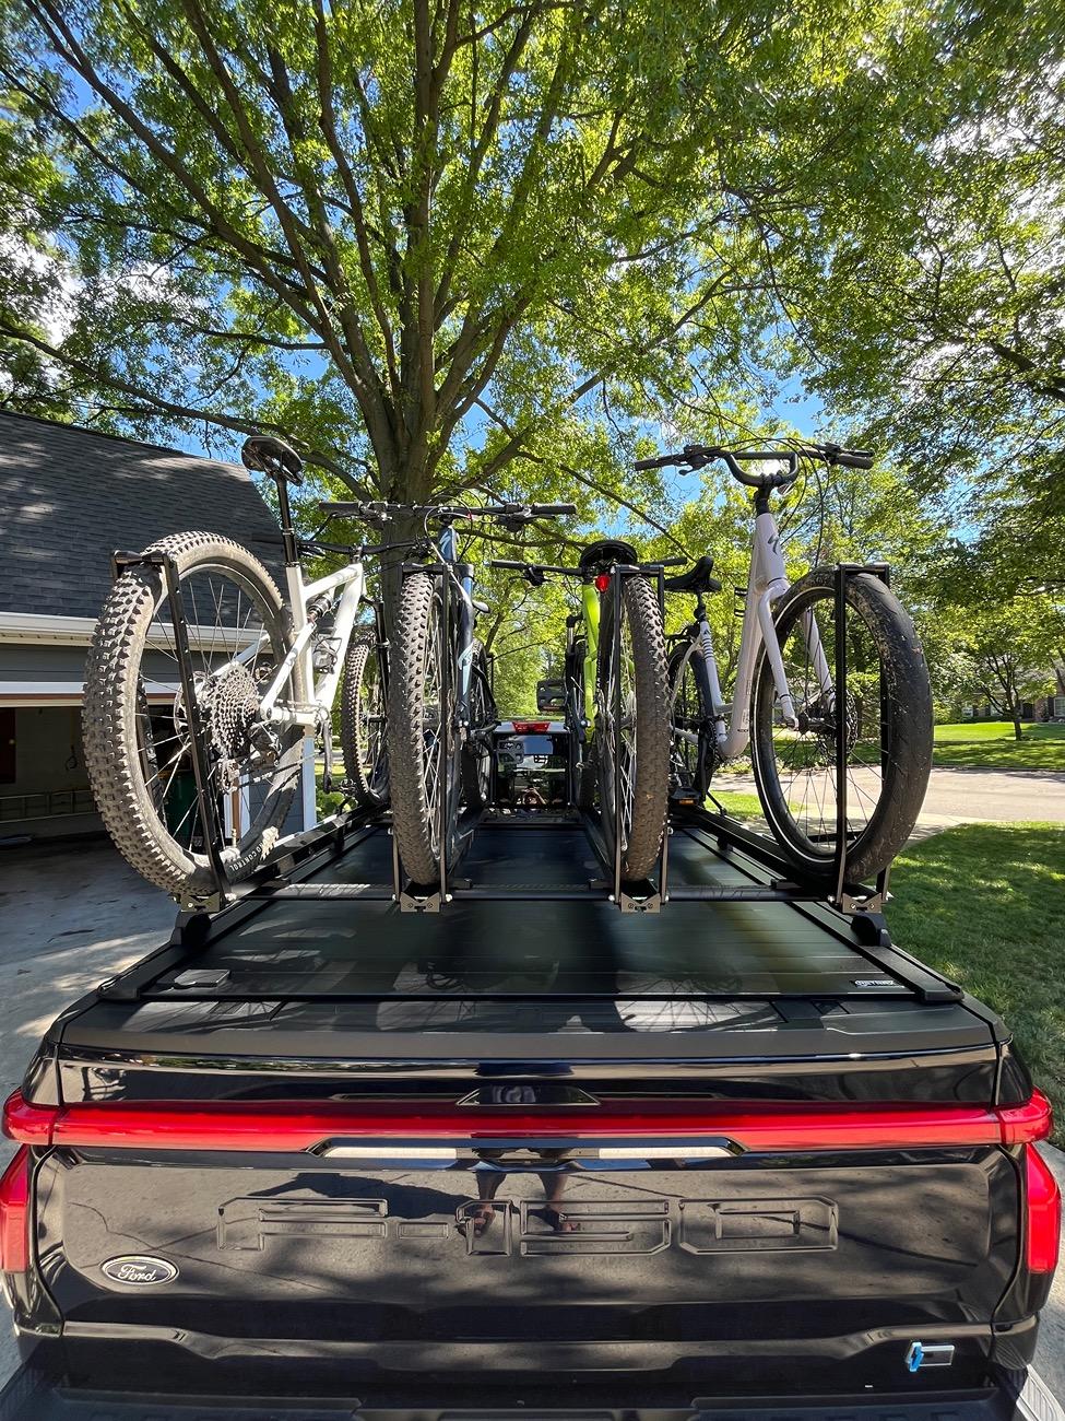
{"label": "smooth-tired front wheel of the pale lavender step-through bicycle", "polygon": [[[868,573],[846,580],[848,692],[836,713],[835,573],[818,568],[782,598],[777,638],[798,718],[784,725],[763,649],[751,699],[751,757],[765,818],[808,874],[832,870],[836,746],[846,745],[846,877],[885,868],[909,838],[932,769],[932,686],[913,622]],[[828,675],[816,671],[821,644]]]}

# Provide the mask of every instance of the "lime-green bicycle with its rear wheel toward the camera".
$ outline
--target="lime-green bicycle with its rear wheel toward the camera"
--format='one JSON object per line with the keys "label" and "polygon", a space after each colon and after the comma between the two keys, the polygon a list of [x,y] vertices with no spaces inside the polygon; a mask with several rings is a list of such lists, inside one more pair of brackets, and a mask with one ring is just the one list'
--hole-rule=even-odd
{"label": "lime-green bicycle with its rear wheel toward the camera", "polygon": [[[548,576],[579,578],[581,612],[567,618],[564,713],[569,793],[591,810],[598,789],[606,855],[621,833],[621,877],[653,871],[669,811],[669,681],[662,612],[636,550],[613,539],[591,543],[577,567],[498,558],[534,587]],[[622,625],[615,634],[613,578],[621,577]],[[621,648],[621,655],[618,655]],[[621,797],[619,793],[621,791]],[[618,826],[618,827],[616,827]]]}

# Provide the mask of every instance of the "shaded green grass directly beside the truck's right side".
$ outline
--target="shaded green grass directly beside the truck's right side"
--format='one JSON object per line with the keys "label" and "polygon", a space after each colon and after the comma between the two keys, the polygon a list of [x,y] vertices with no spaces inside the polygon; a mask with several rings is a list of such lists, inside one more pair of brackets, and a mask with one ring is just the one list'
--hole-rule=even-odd
{"label": "shaded green grass directly beside the truck's right side", "polygon": [[1001,1013],[1065,1145],[1065,826],[966,824],[892,875],[892,936]]}

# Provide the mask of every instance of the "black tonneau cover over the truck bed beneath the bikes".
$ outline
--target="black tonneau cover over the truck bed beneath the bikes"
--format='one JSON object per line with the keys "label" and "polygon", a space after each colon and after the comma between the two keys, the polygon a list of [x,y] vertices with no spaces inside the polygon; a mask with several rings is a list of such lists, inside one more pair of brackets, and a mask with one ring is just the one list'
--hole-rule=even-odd
{"label": "black tonneau cover over the truck bed beneath the bikes", "polygon": [[[598,864],[572,823],[481,828],[463,874],[486,897],[439,914],[325,887],[379,885],[389,865],[386,831],[369,827],[199,945],[186,925],[53,1027],[61,1098],[98,1100],[101,1080],[104,1098],[187,1097],[190,1067],[197,1096],[227,1098],[291,1096],[301,1077],[420,1088],[510,1067],[652,1091],[687,1079],[788,1098],[997,1098],[997,1019],[869,922],[798,894],[684,901],[686,887],[775,887],[706,827],[673,834],[676,897],[657,914],[588,891]],[[557,897],[530,899],[541,888]]]}

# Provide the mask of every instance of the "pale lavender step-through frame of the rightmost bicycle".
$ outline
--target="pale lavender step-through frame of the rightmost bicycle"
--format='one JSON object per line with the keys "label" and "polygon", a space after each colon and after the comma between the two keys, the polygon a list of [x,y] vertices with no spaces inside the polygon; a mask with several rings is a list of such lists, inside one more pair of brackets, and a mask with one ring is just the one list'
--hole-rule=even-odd
{"label": "pale lavender step-through frame of the rightmost bicycle", "polygon": [[[710,625],[703,617],[699,621],[699,655],[693,657],[693,668],[699,682],[703,706],[710,709],[714,723],[714,739],[717,753],[723,760],[736,759],[741,755],[751,737],[751,692],[754,689],[754,674],[758,665],[758,654],[765,648],[765,655],[772,671],[777,698],[781,706],[784,723],[792,729],[798,728],[795,702],[788,688],[788,678],[784,671],[777,630],[772,618],[772,608],[791,587],[784,556],[780,550],[780,530],[777,520],[768,509],[755,514],[754,536],[751,540],[751,571],[747,583],[747,598],[744,603],[743,635],[740,637],[740,661],[736,672],[736,693],[731,705],[721,695],[721,682],[717,672],[717,657],[714,655],[713,635]],[[812,612],[804,617],[804,631],[814,669],[825,696],[832,695],[832,672],[821,644],[816,621]],[[693,745],[699,743],[699,735],[690,730],[677,730],[682,739]]]}

